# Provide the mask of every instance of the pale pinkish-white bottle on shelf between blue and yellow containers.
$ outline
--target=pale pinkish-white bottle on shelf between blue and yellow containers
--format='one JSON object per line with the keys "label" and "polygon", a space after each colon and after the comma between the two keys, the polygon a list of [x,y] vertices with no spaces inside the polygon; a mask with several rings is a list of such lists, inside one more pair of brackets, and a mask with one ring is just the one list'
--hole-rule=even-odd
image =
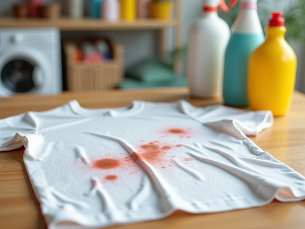
{"label": "pale pinkish-white bottle on shelf between blue and yellow containers", "polygon": [[118,0],[103,0],[101,14],[102,18],[109,22],[120,20],[120,2]]}

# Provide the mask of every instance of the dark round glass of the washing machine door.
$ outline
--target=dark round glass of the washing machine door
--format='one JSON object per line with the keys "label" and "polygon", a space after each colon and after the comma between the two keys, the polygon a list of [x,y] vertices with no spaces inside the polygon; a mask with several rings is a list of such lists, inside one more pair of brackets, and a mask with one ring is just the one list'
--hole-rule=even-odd
{"label": "dark round glass of the washing machine door", "polygon": [[15,93],[28,92],[35,87],[34,68],[35,66],[26,60],[12,60],[2,69],[2,84]]}

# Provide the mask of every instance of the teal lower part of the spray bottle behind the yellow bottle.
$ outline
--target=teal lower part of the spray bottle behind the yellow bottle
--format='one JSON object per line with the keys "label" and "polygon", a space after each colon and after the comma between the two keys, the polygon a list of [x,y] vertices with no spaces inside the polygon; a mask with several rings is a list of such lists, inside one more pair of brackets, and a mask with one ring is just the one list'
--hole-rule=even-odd
{"label": "teal lower part of the spray bottle behind the yellow bottle", "polygon": [[224,57],[224,102],[248,106],[247,78],[250,54],[265,40],[264,34],[233,33]]}

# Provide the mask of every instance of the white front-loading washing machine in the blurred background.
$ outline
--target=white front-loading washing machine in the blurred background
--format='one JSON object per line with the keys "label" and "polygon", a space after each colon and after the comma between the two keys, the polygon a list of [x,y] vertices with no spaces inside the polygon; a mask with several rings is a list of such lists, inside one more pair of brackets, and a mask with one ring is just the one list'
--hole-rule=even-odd
{"label": "white front-loading washing machine in the blurred background", "polygon": [[62,91],[57,28],[0,29],[0,96]]}

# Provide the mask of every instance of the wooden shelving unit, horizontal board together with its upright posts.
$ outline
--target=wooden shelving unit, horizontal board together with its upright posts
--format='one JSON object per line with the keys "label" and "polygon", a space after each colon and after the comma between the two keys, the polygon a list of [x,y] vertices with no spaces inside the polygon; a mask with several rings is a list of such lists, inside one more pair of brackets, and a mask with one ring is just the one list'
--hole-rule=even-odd
{"label": "wooden shelving unit, horizontal board together with its upright posts", "polygon": [[[62,17],[58,20],[47,19],[15,19],[0,17],[0,28],[5,27],[58,27],[61,31],[102,31],[102,30],[158,30],[159,53],[162,57],[166,52],[166,30],[174,28],[174,46],[181,46],[181,3],[182,0],[174,1],[174,17],[170,20],[137,19],[134,21],[106,22],[101,19],[83,18],[79,20]],[[181,72],[181,64],[174,64],[176,72]]]}

